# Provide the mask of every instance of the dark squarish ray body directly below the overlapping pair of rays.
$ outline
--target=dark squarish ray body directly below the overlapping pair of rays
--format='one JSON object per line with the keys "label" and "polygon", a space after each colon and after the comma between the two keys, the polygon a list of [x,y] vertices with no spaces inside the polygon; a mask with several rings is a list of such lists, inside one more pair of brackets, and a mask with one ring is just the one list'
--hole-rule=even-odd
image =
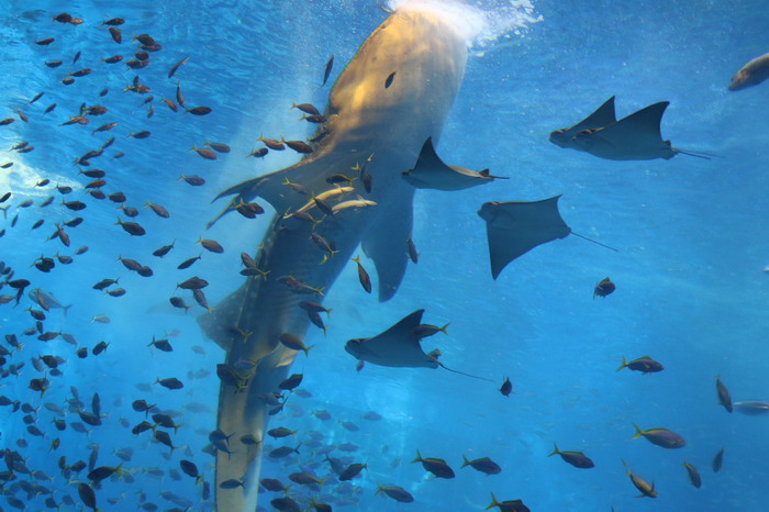
{"label": "dark squarish ray body directly below the overlapping pair of rays", "polygon": [[542,201],[487,202],[478,214],[486,221],[491,276],[497,279],[513,259],[537,245],[564,238],[571,229],[558,212],[555,196]]}

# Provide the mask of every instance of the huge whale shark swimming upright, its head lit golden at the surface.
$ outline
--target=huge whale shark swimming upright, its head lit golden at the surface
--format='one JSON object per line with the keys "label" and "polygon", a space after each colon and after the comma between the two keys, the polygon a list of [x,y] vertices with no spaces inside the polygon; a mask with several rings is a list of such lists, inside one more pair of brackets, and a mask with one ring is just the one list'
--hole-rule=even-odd
{"label": "huge whale shark swimming upright, its head lit golden at the surface", "polygon": [[[358,245],[376,267],[379,300],[398,290],[406,269],[415,191],[401,172],[414,166],[428,137],[438,143],[467,55],[466,37],[441,12],[421,3],[402,5],[369,35],[334,84],[325,126],[319,129],[327,135],[315,151],[220,194],[231,197],[223,213],[255,200],[267,201],[276,213],[254,258],[269,274],[248,277],[198,319],[226,350],[225,370],[239,360],[254,363],[252,370],[232,371],[233,378],[220,385],[216,428],[229,441],[216,453],[218,511],[256,509],[261,444],[237,439],[264,438],[266,398],[272,398],[298,354],[281,340],[301,342],[309,327],[299,305],[308,297],[303,292],[322,301]],[[388,80],[393,74],[397,79]],[[364,179],[345,187],[330,183],[338,174],[355,176],[355,169],[368,175],[368,186]],[[301,185],[301,191],[289,183]],[[300,221],[300,211],[312,222]],[[322,265],[312,233],[334,247]],[[243,486],[221,487],[233,479]]]}

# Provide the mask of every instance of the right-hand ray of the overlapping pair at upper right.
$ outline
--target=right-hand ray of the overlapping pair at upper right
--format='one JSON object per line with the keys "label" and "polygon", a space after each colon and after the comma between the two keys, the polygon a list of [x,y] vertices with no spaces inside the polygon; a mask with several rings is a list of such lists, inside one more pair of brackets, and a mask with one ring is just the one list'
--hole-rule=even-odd
{"label": "right-hand ray of the overlapping pair at upper right", "polygon": [[617,152],[637,151],[642,148],[656,148],[664,145],[659,124],[662,121],[665,109],[669,101],[650,104],[631,115],[621,119],[593,135],[598,135],[609,142]]}

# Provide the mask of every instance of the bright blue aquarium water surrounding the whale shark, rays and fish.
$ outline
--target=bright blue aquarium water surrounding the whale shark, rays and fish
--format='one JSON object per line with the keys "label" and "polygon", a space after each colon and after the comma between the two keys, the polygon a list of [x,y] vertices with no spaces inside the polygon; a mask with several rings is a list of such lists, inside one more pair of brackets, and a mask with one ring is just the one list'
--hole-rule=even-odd
{"label": "bright blue aquarium water surrounding the whale shark, rays and fish", "polygon": [[[67,316],[52,310],[45,331],[70,333],[78,347],[89,349],[100,341],[110,343],[105,353],[79,359],[78,347],[60,337],[44,343],[22,335],[34,326],[24,312],[32,305],[29,298],[16,307],[0,305],[1,334],[16,334],[25,344],[5,368],[21,361],[25,366],[19,377],[0,380],[0,394],[33,408],[46,402],[65,408],[74,386],[86,410],[93,392],[101,397],[103,424],[89,427],[88,435],[71,427],[57,432],[54,413],[41,408],[33,416],[45,437],[35,437],[26,432],[24,413],[11,412],[11,407],[0,410],[2,447],[18,450],[30,469],[51,477],[34,481],[53,491],[57,503],[66,494],[78,503],[62,510],[79,510],[77,482],[88,470],[67,480],[56,461],[59,456],[70,465],[88,460],[91,444],[99,445],[97,466],[118,465],[112,455],[116,448],[135,452],[123,477],[105,480],[97,491],[102,509],[141,510],[140,500],[160,510],[183,509],[161,498],[163,491],[189,500],[192,510],[211,509],[211,501],[201,501],[201,486],[186,475],[175,479],[171,469],[179,472],[179,459],[187,458],[207,480],[213,478],[213,458],[201,450],[208,432],[215,428],[215,365],[224,355],[197,326],[194,318],[203,310],[191,297],[185,296],[193,305],[187,315],[174,311],[167,299],[178,282],[193,275],[210,281],[205,292],[212,305],[239,286],[243,278],[234,270],[239,268],[238,255],[256,251],[269,215],[256,221],[231,215],[205,232],[205,222],[222,207],[211,205],[211,199],[235,182],[298,160],[290,152],[271,153],[264,160],[245,155],[260,147],[255,141],[260,133],[286,138],[311,134],[289,107],[305,101],[324,107],[328,86],[319,88],[323,65],[335,56],[333,80],[386,18],[376,5],[353,0],[141,0],[122,5],[83,0],[67,7],[85,20],[71,26],[52,22],[62,11],[59,2],[5,3],[0,15],[0,116],[16,116],[15,109],[23,108],[30,122],[16,120],[0,127],[0,160],[15,163],[0,170],[0,194],[13,192],[7,219],[0,221],[0,229],[7,230],[0,238],[0,259],[15,269],[16,278],[74,304]],[[764,121],[769,86],[726,90],[737,69],[768,51],[769,4],[538,0],[531,14],[542,21],[521,29],[511,26],[510,2],[473,5],[508,29],[487,29],[488,37],[471,48],[438,153],[449,163],[488,167],[510,179],[462,192],[417,192],[413,238],[420,261],[409,266],[391,301],[378,303],[375,296],[365,294],[354,264],[339,276],[325,302],[334,310],[327,336],[311,327],[305,342],[315,347],[308,357],[300,354],[292,368],[304,374],[302,389],[312,397],[292,397],[270,426],[299,430],[297,439],[286,443],[291,446],[309,441],[309,431],[321,432],[324,446],[353,443],[359,450],[349,455],[368,469],[352,486],[328,482],[313,491],[293,485],[291,494],[305,507],[307,497],[320,496],[343,510],[471,511],[486,508],[491,492],[500,500],[522,499],[536,511],[766,510],[768,420],[727,414],[717,404],[714,381],[721,376],[735,401],[769,399],[764,347],[769,292],[761,271],[769,263],[769,136]],[[113,16],[126,20],[122,45],[99,26]],[[129,47],[135,45],[131,35],[145,32],[164,47],[152,56],[149,67],[133,73],[124,64],[99,63],[114,54],[130,55]],[[34,44],[44,37],[56,41],[47,47]],[[78,51],[79,63],[70,65]],[[169,80],[168,68],[185,56],[188,64]],[[56,69],[43,65],[56,59],[65,64]],[[86,67],[94,71],[71,86],[59,82],[67,73]],[[153,88],[149,119],[143,97],[123,91],[136,74]],[[160,98],[174,98],[176,79],[189,104],[208,105],[213,112],[192,118],[160,103]],[[109,93],[100,99],[105,87]],[[24,107],[41,91],[43,98]],[[675,147],[723,158],[679,155],[670,160],[610,162],[547,141],[550,131],[578,122],[613,94],[617,116],[670,101],[664,137]],[[53,102],[56,110],[44,114]],[[109,113],[88,126],[59,126],[77,115],[81,102],[104,104]],[[107,122],[119,124],[112,132],[90,134]],[[126,138],[141,130],[152,131],[152,136]],[[112,135],[114,145],[91,168],[108,171],[105,192],[123,191],[127,204],[141,210],[136,221],[148,235],[129,236],[114,225],[115,203],[88,198],[78,189],[67,199],[82,200],[88,208],[79,212],[85,222],[67,229],[71,246],[46,241],[55,223],[78,215],[59,205],[53,186],[82,187],[90,181],[77,175],[73,160]],[[8,151],[21,141],[35,151]],[[188,151],[207,141],[227,143],[232,153],[209,162]],[[116,152],[125,157],[110,159]],[[180,174],[202,176],[207,183],[192,188],[177,180]],[[43,178],[52,185],[35,187]],[[562,216],[575,232],[620,253],[569,236],[524,255],[493,281],[484,225],[476,214],[480,205],[559,193]],[[54,203],[40,208],[52,194],[57,197]],[[19,209],[27,198],[34,205]],[[165,205],[171,218],[160,219],[143,208],[147,201]],[[18,224],[11,227],[16,213]],[[31,231],[38,219],[44,225]],[[201,235],[219,241],[225,253],[204,252],[194,243]],[[166,258],[152,256],[174,241]],[[70,266],[57,264],[49,274],[31,267],[42,254],[71,255],[80,246],[89,251]],[[202,259],[191,269],[176,269],[201,252]],[[154,277],[129,272],[115,261],[119,256],[151,266]],[[364,264],[376,279],[372,264]],[[616,291],[593,300],[593,286],[606,276]],[[92,290],[102,278],[120,278],[127,293],[112,298]],[[3,293],[11,293],[8,287],[0,290]],[[442,361],[452,368],[499,383],[509,376],[515,394],[504,398],[497,385],[443,369],[367,365],[356,372],[355,359],[343,349],[347,340],[372,336],[422,308],[425,322],[450,322],[449,335],[426,340],[425,348],[439,347]],[[111,323],[92,322],[99,314]],[[147,347],[153,336],[170,336],[174,352]],[[205,354],[193,352],[194,346]],[[27,389],[30,379],[42,377],[31,359],[48,354],[67,363],[60,367],[63,376],[48,376],[51,388],[41,397]],[[615,372],[622,356],[644,355],[661,361],[665,370],[650,376]],[[201,369],[209,376],[188,376]],[[185,388],[170,391],[153,385],[167,377],[179,378]],[[149,385],[152,391],[136,385]],[[176,419],[182,426],[172,434],[178,448],[170,459],[164,456],[169,449],[151,442],[149,435],[134,436],[121,426],[121,419],[131,426],[144,419],[131,409],[136,399],[183,413]],[[185,409],[190,402],[204,404],[209,412],[190,412]],[[317,410],[330,411],[333,419],[315,419],[311,411]],[[383,420],[363,420],[370,410]],[[65,419],[79,421],[76,413]],[[348,432],[341,421],[353,421],[361,431]],[[683,435],[687,446],[666,450],[633,441],[633,423],[668,427]],[[56,437],[60,447],[49,452]],[[21,439],[29,447],[19,447]],[[595,468],[580,470],[548,458],[554,442],[561,449],[584,452]],[[722,447],[724,468],[714,474],[711,460]],[[325,449],[300,448],[291,463],[265,461],[261,477],[288,483],[290,472],[299,465],[314,466]],[[421,465],[410,464],[417,449],[425,457],[445,458],[457,477],[435,479]],[[338,450],[334,454],[341,456]],[[462,455],[489,456],[502,466],[502,474],[486,477],[459,469]],[[621,459],[655,482],[656,500],[635,498],[638,492]],[[689,482],[684,461],[699,468],[701,489]],[[147,468],[160,468],[164,476],[152,476]],[[330,475],[326,464],[315,471],[321,478]],[[45,494],[27,496],[18,487],[30,479],[18,475],[3,492],[21,499],[26,510],[44,510]],[[401,486],[415,502],[375,496],[377,483]],[[261,494],[260,505],[270,510],[269,499],[276,496]]]}

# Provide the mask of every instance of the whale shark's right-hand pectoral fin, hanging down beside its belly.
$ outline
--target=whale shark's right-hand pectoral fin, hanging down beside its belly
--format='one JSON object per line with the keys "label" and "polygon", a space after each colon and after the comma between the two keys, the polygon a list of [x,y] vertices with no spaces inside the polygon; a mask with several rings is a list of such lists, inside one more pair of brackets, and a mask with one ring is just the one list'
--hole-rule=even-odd
{"label": "whale shark's right-hand pectoral fin, hanging down beside its belly", "polygon": [[412,199],[413,191],[405,191],[393,209],[379,215],[363,238],[364,253],[377,267],[381,302],[395,294],[405,274],[406,241],[413,223]]}

